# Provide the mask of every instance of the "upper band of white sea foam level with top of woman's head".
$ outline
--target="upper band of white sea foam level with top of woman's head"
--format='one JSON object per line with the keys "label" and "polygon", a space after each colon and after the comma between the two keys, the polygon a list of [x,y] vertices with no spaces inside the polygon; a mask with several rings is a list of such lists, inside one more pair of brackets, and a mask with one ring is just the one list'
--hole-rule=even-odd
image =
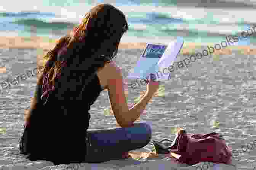
{"label": "upper band of white sea foam level with top of woman's head", "polygon": [[[114,5],[114,3],[112,3]],[[115,6],[115,5],[114,5]],[[195,7],[177,7],[177,6],[116,6],[123,11],[126,18],[129,16],[142,16],[143,13],[161,13],[174,19],[185,20],[216,20],[224,23],[237,23],[244,21],[250,23],[253,19],[255,11],[253,9],[205,9]],[[54,13],[56,17],[66,19],[68,22],[80,22],[83,16],[92,8],[91,5],[81,3],[79,6],[43,6],[42,2],[34,2],[25,0],[16,2],[5,1],[0,6],[0,12],[17,12],[17,11],[40,11],[43,13]],[[133,14],[135,12],[136,14]]]}

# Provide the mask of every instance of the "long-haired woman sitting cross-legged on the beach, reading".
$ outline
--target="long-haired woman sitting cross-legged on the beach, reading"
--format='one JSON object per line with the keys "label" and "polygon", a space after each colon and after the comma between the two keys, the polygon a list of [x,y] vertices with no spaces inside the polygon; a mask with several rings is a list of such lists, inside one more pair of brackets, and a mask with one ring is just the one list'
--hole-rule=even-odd
{"label": "long-haired woman sitting cross-legged on the beach, reading", "polygon": [[[56,165],[102,162],[120,159],[150,142],[150,126],[134,121],[159,84],[150,80],[144,98],[128,109],[122,72],[112,61],[127,30],[120,10],[99,4],[72,34],[59,39],[45,54],[44,70],[25,120],[27,152],[23,153],[29,154],[30,160],[47,160]],[[108,90],[121,128],[89,131],[88,111],[104,89]]]}

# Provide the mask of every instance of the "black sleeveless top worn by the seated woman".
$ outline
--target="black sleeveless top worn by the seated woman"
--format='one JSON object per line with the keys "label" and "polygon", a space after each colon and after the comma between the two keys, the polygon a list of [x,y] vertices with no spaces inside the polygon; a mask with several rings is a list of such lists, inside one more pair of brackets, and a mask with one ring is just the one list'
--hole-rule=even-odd
{"label": "black sleeveless top worn by the seated woman", "polygon": [[[78,96],[83,88],[85,90],[82,100],[75,100],[75,96]],[[70,93],[66,93],[61,100],[51,97],[48,104],[43,106],[40,98],[42,85],[38,86],[37,102],[40,107],[31,118],[33,142],[30,144],[34,146],[31,159],[53,161],[54,164],[83,161],[86,153],[85,134],[90,120],[89,110],[102,90],[95,73],[86,87],[77,85],[76,92],[69,91]],[[55,93],[58,93],[58,90]]]}

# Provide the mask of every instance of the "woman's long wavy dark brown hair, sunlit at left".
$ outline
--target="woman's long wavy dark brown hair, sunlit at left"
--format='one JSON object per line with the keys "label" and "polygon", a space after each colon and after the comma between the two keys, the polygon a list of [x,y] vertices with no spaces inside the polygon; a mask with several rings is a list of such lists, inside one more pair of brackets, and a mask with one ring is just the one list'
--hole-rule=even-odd
{"label": "woman's long wavy dark brown hair, sunlit at left", "polygon": [[117,54],[127,30],[125,15],[119,9],[107,3],[94,6],[70,35],[60,38],[44,55],[43,74],[47,79],[43,84],[52,89],[65,67],[88,74],[103,67]]}

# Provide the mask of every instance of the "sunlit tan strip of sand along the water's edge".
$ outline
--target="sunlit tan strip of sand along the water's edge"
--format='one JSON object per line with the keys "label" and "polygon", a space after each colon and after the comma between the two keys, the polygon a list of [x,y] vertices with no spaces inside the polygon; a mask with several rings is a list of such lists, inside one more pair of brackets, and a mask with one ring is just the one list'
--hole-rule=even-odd
{"label": "sunlit tan strip of sand along the water's edge", "polygon": [[[31,36],[0,36],[0,48],[10,49],[41,49],[43,52],[37,55],[37,65],[42,65],[42,55],[48,50],[52,49],[55,45],[56,39],[48,37]],[[119,49],[144,49],[146,42],[120,42]],[[155,43],[159,44],[159,43]],[[184,45],[180,51],[182,55],[195,54],[195,49],[207,49],[206,46],[214,46],[216,43],[196,43],[196,42],[184,42]],[[256,47],[253,46],[227,46],[220,50],[215,50],[214,55],[230,55],[232,50],[240,50],[242,54],[254,54],[256,55]],[[0,72],[4,72],[0,70]]]}

